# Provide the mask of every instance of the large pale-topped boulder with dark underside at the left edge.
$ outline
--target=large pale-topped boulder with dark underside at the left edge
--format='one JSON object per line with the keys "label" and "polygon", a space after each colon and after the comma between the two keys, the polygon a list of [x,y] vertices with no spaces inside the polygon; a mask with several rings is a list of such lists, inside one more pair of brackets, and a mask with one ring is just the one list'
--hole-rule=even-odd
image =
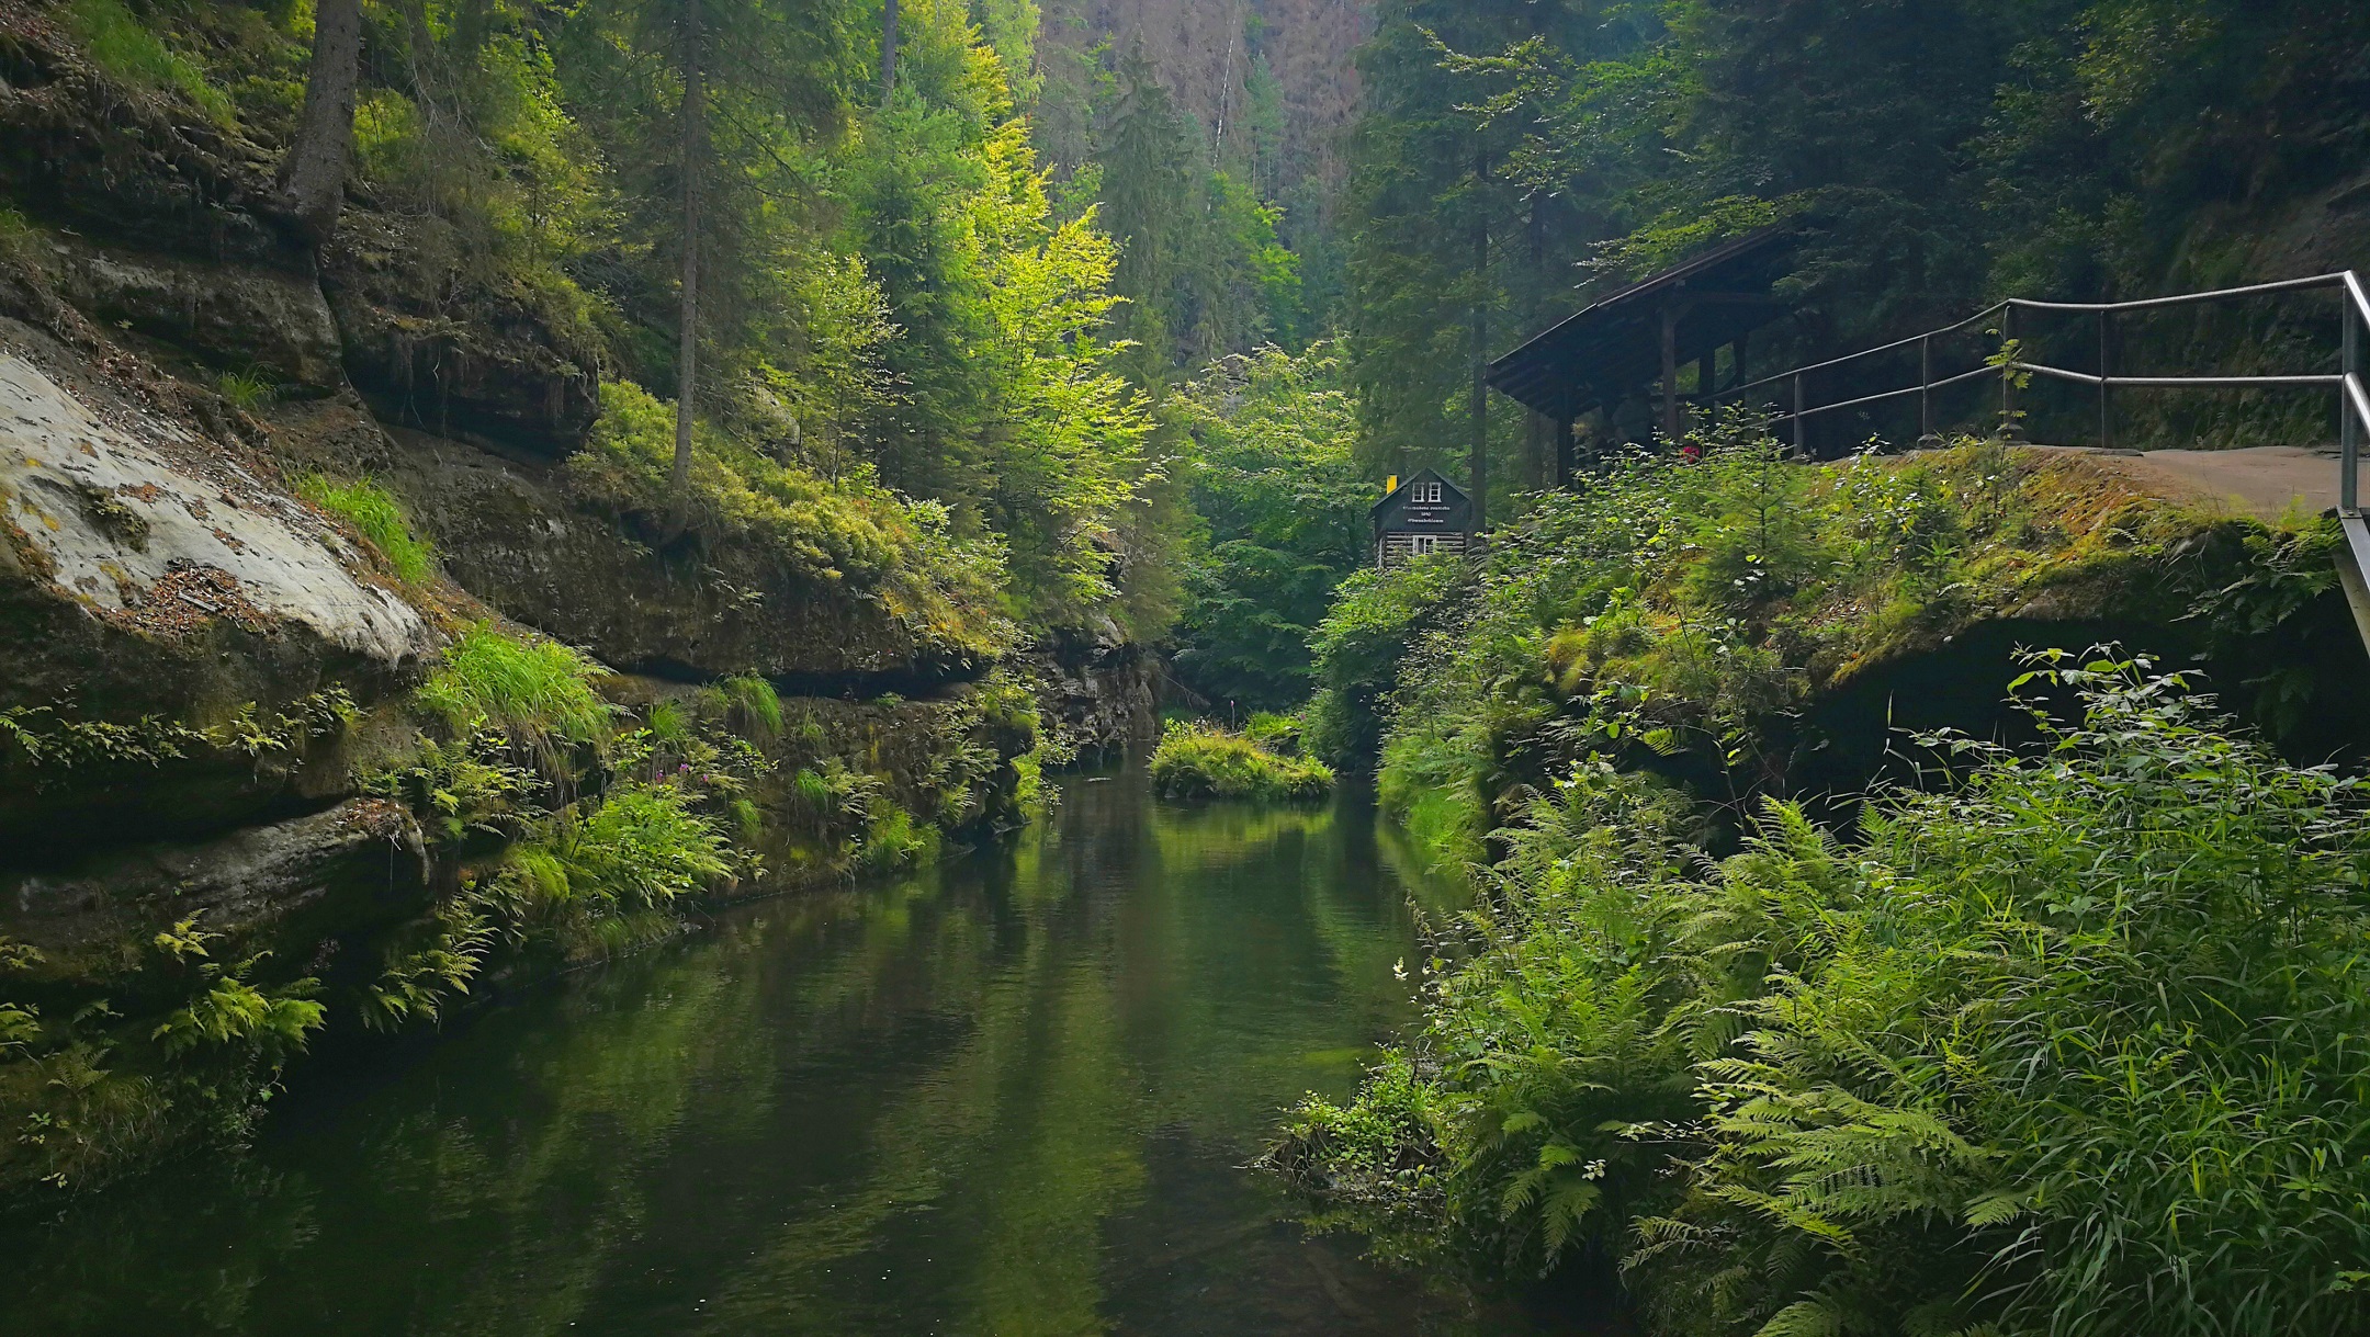
{"label": "large pale-topped boulder with dark underside at the left edge", "polygon": [[[261,462],[0,320],[0,863],[334,797],[436,628]],[[228,730],[228,733],[225,733]],[[199,737],[192,737],[199,735]]]}

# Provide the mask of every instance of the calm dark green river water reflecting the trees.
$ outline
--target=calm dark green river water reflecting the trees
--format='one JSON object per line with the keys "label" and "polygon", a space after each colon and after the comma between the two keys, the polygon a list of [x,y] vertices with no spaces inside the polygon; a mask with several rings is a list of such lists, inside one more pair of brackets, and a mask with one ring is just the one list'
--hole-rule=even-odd
{"label": "calm dark green river water reflecting the trees", "polygon": [[0,1330],[1550,1332],[1240,1169],[1413,1017],[1403,868],[1356,797],[1074,778],[1012,849],[315,1064],[251,1150],[0,1233]]}

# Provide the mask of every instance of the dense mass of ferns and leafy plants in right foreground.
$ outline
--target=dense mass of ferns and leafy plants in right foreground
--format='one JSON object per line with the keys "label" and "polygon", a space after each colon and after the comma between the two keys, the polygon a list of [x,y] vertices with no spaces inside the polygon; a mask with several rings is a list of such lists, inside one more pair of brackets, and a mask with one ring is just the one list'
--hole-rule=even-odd
{"label": "dense mass of ferns and leafy plants in right foreground", "polygon": [[[1275,1162],[1405,1254],[1626,1254],[1661,1332],[2334,1332],[2370,1256],[2370,806],[2145,664],[1844,846],[1576,768],[1424,1034]],[[2036,711],[2038,716],[2038,711]]]}

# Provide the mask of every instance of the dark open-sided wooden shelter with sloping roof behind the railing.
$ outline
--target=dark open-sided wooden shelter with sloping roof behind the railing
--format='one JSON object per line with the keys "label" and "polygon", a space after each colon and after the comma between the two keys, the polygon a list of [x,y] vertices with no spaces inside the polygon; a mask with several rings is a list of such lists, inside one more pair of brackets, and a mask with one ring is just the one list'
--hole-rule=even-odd
{"label": "dark open-sided wooden shelter with sloping roof behind the railing", "polygon": [[1775,284],[1794,242],[1792,228],[1761,228],[1633,282],[1491,363],[1488,384],[1555,424],[1557,481],[1571,476],[1571,424],[1593,410],[1609,420],[1623,401],[1654,394],[1659,427],[1676,439],[1678,370],[1695,363],[1695,394],[1709,394],[1728,346],[1725,384],[1747,382],[1749,334],[1789,313]]}

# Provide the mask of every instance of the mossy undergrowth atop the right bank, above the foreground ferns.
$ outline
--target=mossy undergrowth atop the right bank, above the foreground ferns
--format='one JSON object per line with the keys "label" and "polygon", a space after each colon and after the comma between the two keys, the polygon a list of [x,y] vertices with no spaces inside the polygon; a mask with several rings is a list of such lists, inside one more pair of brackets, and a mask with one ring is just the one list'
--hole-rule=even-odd
{"label": "mossy undergrowth atop the right bank, above the foreground ferns", "polygon": [[2159,626],[2214,652],[2273,728],[2323,709],[2249,654],[2327,595],[2334,526],[2199,512],[1998,441],[1796,465],[1730,417],[1697,446],[1538,498],[1477,562],[1344,586],[1308,733],[1325,756],[1382,735],[1379,799],[1434,861],[1481,858],[1583,756],[1673,778],[1737,825],[1830,761],[1820,699],[1986,619]]}

